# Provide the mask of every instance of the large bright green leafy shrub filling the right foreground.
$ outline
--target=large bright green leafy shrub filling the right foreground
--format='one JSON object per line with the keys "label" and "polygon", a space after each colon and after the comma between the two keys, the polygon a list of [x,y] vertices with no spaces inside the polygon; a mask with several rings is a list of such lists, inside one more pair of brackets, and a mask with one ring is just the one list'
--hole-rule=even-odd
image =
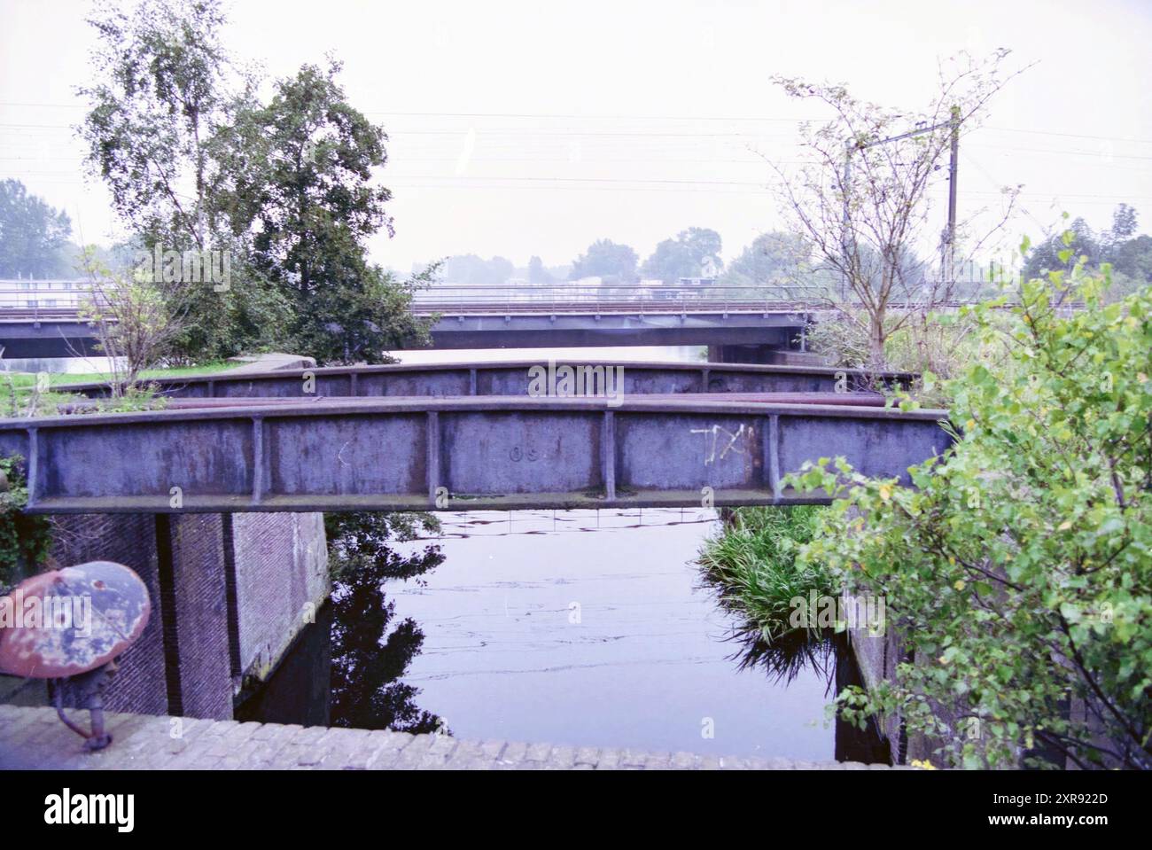
{"label": "large bright green leafy shrub filling the right foreground", "polygon": [[971,311],[1008,357],[948,384],[956,442],[915,488],[842,458],[788,481],[841,496],[801,560],[885,599],[912,658],[840,711],[943,764],[1152,768],[1152,289],[1107,284],[1081,263]]}

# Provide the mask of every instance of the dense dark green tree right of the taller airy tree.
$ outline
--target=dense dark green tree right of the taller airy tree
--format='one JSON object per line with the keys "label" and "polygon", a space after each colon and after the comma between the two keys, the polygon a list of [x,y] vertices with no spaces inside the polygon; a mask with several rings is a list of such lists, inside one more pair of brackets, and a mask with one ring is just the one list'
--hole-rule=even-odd
{"label": "dense dark green tree right of the taller airy tree", "polygon": [[387,162],[384,129],[347,100],[340,63],[304,66],[276,83],[267,106],[248,105],[214,142],[219,205],[257,274],[291,304],[288,339],[320,363],[384,363],[386,350],[426,337],[415,290],[437,266],[397,281],[367,260],[366,241],[393,234],[373,181]]}

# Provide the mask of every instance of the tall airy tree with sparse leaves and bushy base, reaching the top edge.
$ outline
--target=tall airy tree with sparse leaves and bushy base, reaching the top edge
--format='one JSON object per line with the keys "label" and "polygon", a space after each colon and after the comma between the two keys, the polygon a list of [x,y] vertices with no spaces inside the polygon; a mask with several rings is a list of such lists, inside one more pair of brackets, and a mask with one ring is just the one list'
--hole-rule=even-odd
{"label": "tall airy tree with sparse leaves and bushy base, reaching the top edge", "polygon": [[226,287],[182,275],[164,280],[151,267],[169,316],[180,317],[170,355],[211,359],[279,341],[286,304],[251,278],[219,203],[222,144],[234,139],[232,128],[256,86],[223,50],[220,0],[141,0],[130,13],[104,1],[89,23],[99,46],[93,82],[77,90],[91,105],[79,132],[113,208],[143,256],[159,248],[230,260]]}

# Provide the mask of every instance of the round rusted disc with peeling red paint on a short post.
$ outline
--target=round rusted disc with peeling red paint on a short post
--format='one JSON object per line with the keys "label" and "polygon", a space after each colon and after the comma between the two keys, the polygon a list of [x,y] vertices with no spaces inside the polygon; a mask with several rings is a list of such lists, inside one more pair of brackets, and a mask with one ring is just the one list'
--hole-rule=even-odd
{"label": "round rusted disc with peeling red paint on a short post", "polygon": [[43,572],[0,597],[0,671],[60,678],[94,670],[141,636],[152,605],[123,564],[89,561]]}

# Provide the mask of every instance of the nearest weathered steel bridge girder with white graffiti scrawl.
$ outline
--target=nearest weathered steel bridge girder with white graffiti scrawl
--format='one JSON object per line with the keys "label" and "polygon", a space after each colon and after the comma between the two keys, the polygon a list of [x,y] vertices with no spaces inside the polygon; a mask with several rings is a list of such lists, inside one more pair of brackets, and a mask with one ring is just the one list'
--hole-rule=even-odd
{"label": "nearest weathered steel bridge girder with white graffiti scrawl", "polygon": [[[612,400],[608,400],[612,401]],[[826,502],[783,487],[844,455],[870,476],[950,443],[943,411],[763,401],[347,399],[0,420],[30,513],[461,510]]]}

